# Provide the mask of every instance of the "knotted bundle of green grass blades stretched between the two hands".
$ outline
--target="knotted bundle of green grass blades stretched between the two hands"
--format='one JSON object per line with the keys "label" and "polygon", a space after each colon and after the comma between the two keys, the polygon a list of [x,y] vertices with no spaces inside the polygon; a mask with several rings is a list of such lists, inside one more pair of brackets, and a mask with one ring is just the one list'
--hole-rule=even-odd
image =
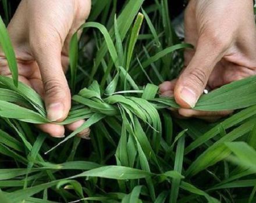
{"label": "knotted bundle of green grass blades stretched between the two hands", "polygon": [[[246,108],[256,104],[256,77],[250,77],[241,81],[232,82],[219,89],[203,95],[198,100],[195,110],[222,111]],[[158,87],[152,84],[139,91],[141,97],[123,96],[121,93],[112,93],[105,96],[101,92],[97,81],[94,81],[88,89],[80,90],[72,100],[74,106],[65,121],[56,124],[66,125],[80,119],[88,119],[86,124],[74,131],[64,141],[77,133],[90,127],[108,116],[120,116],[127,113],[139,118],[144,123],[159,132],[160,118],[158,110],[162,108],[179,108],[173,98],[158,97]],[[129,92],[129,91],[128,91]],[[125,93],[125,92],[122,92]],[[13,118],[33,124],[47,124],[46,110],[41,97],[29,86],[19,82],[16,87],[12,79],[0,76],[0,116]],[[230,102],[233,101],[233,102]],[[63,141],[62,141],[63,142]],[[61,143],[62,143],[61,142]]]}

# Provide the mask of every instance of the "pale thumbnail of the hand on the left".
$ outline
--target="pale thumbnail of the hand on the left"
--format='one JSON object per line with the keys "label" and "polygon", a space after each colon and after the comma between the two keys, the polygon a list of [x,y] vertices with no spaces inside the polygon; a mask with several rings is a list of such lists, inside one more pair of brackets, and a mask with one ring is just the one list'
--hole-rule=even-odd
{"label": "pale thumbnail of the hand on the left", "polygon": [[62,103],[50,104],[47,108],[47,117],[50,121],[58,121],[63,117],[64,107]]}

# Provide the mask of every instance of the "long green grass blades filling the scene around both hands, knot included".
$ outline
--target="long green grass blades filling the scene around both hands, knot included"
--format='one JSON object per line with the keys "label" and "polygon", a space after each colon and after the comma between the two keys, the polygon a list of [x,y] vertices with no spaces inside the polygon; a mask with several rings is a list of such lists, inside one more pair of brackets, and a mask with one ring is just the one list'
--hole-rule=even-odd
{"label": "long green grass blades filling the scene around both hands, knot included", "polygon": [[[256,77],[203,95],[194,107],[234,110],[227,118],[172,117],[168,108],[179,106],[159,96],[158,85],[177,76],[183,50],[193,46],[177,38],[170,12],[167,0],[93,1],[83,37],[70,43],[72,108],[57,124],[86,122],[63,139],[35,128],[50,123],[44,102],[17,82],[0,21],[13,74],[0,76],[0,202],[256,201]],[[90,140],[76,137],[88,127]]]}

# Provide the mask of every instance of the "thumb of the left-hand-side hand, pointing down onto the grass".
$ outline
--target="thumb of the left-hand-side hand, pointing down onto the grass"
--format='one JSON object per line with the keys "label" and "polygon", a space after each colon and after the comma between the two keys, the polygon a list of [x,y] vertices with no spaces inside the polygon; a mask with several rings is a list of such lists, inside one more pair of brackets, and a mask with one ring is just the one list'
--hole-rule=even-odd
{"label": "thumb of the left-hand-side hand, pointing down onto the grass", "polygon": [[61,64],[61,39],[46,35],[33,43],[32,52],[40,68],[44,102],[50,121],[63,121],[70,110],[71,96]]}

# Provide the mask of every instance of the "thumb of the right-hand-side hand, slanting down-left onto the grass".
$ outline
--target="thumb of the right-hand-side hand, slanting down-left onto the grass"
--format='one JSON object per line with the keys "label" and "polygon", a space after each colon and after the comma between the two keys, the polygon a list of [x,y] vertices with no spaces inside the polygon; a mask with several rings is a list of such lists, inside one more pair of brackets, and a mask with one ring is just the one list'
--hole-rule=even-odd
{"label": "thumb of the right-hand-side hand, slanting down-left onto the grass", "polygon": [[223,57],[224,51],[224,48],[209,42],[198,43],[194,56],[175,86],[175,100],[182,108],[195,106],[207,85],[209,75]]}

